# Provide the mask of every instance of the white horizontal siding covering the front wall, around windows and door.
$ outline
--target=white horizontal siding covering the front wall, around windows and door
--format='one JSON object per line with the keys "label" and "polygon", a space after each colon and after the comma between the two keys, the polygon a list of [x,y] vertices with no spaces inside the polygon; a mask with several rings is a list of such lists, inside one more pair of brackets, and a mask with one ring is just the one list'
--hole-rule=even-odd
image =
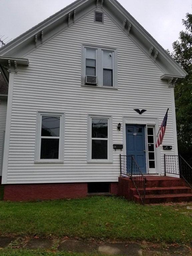
{"label": "white horizontal siding covering the front wall, around windows and door", "polygon": [[[171,93],[160,79],[162,71],[105,14],[104,21],[94,22],[90,13],[25,56],[29,67],[18,67],[9,116],[7,183],[117,182],[124,149],[111,148],[113,163],[87,162],[88,114],[112,116],[111,143],[123,144],[124,126],[117,130],[123,116],[138,118],[133,109],[146,109],[142,116],[159,118],[160,126],[169,107],[164,144],[173,145],[174,154]],[[81,86],[82,45],[117,49],[118,90]],[[34,163],[37,111],[65,113],[63,163]],[[164,152],[158,150],[163,166]]]}

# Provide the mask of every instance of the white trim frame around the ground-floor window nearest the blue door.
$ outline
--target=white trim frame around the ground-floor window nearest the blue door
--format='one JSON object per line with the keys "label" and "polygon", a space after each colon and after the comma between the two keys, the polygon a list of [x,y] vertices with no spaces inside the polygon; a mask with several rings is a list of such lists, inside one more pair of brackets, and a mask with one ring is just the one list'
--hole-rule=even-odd
{"label": "white trim frame around the ground-floor window nearest the blue door", "polygon": [[[107,155],[108,159],[91,159],[92,150],[92,118],[108,119],[108,143],[107,143]],[[113,131],[112,131],[112,116],[94,115],[88,114],[88,132],[87,132],[87,163],[113,163]]]}

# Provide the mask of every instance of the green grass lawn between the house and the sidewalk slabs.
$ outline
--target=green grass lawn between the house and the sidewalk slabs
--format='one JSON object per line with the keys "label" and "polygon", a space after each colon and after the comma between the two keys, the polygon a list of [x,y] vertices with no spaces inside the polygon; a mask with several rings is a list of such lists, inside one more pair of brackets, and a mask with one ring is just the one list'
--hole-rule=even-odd
{"label": "green grass lawn between the house and the sidewalk slabs", "polygon": [[186,206],[143,206],[119,197],[0,201],[0,235],[190,244],[190,212]]}

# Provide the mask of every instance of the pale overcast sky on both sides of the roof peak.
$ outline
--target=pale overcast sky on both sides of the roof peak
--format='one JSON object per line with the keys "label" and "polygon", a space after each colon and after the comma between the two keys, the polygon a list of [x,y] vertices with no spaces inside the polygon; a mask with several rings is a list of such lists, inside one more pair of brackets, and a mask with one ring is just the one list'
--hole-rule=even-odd
{"label": "pale overcast sky on both sides of the roof peak", "polygon": [[[95,0],[96,1],[96,0]],[[74,0],[0,0],[0,39],[7,43]],[[119,3],[157,40],[172,51],[191,13],[192,0],[119,0]]]}

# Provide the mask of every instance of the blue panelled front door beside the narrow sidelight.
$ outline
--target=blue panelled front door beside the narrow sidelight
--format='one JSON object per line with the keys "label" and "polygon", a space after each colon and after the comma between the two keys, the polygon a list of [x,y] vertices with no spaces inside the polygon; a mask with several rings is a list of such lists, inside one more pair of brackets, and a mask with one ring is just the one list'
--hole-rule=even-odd
{"label": "blue panelled front door beside the narrow sidelight", "polygon": [[126,154],[132,155],[142,173],[146,173],[145,129],[142,125],[126,125]]}

